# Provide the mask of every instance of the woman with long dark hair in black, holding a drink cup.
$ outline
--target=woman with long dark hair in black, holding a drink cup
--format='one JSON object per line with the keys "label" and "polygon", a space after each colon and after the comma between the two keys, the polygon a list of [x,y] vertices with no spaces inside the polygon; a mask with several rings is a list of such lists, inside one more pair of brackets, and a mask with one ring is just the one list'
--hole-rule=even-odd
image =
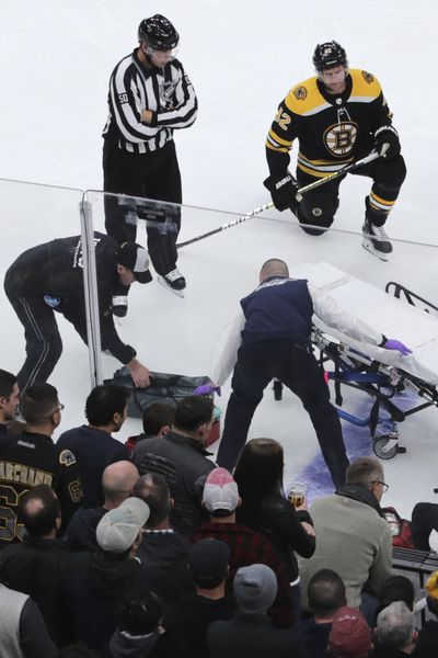
{"label": "woman with long dark hair in black, holding a drink cup", "polygon": [[273,543],[283,559],[291,588],[292,610],[300,614],[300,579],[297,558],[311,557],[315,549],[312,520],[306,506],[297,509],[285,497],[284,452],[274,439],[252,439],[243,449],[234,470],[242,504],[238,521]]}

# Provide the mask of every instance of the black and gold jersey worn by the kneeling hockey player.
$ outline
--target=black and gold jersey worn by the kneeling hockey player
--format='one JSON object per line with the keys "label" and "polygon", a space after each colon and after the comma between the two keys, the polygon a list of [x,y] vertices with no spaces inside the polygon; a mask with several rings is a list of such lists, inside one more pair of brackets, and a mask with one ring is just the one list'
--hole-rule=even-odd
{"label": "black and gold jersey worn by the kneeling hockey player", "polygon": [[385,125],[391,113],[374,76],[351,69],[341,94],[330,94],[314,76],[293,87],[278,107],[266,140],[269,171],[286,173],[298,139],[297,172],[323,178],[367,156],[374,132]]}

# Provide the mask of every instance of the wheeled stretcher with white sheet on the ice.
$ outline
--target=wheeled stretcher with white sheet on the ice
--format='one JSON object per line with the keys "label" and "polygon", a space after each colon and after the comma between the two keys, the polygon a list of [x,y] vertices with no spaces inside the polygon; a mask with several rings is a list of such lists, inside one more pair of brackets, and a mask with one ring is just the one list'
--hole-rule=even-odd
{"label": "wheeled stretcher with white sheet on the ice", "polygon": [[[339,417],[369,427],[373,452],[380,458],[405,452],[399,445],[397,423],[438,406],[438,308],[401,284],[390,282],[382,291],[325,262],[300,264],[290,276],[307,279],[343,310],[412,349],[412,354],[403,356],[356,341],[314,316],[312,345],[320,353],[326,376],[334,382]],[[344,386],[373,399],[368,416],[361,418],[341,408]],[[274,392],[278,399],[278,383]]]}

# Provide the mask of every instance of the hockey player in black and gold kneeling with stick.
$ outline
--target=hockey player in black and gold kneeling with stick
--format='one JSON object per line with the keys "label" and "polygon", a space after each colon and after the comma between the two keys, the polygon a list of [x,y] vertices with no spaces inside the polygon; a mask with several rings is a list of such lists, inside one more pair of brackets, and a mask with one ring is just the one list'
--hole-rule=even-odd
{"label": "hockey player in black and gold kneeling with stick", "polygon": [[[316,46],[316,76],[289,91],[278,106],[266,140],[270,175],[264,182],[278,211],[290,208],[301,228],[314,236],[328,228],[337,211],[344,177],[296,200],[297,186],[308,185],[372,149],[381,156],[355,171],[370,177],[365,200],[362,246],[385,261],[392,246],[384,223],[406,175],[399,135],[379,81],[361,69],[348,69],[342,46],[332,41]],[[289,173],[289,151],[299,141],[297,180]]]}

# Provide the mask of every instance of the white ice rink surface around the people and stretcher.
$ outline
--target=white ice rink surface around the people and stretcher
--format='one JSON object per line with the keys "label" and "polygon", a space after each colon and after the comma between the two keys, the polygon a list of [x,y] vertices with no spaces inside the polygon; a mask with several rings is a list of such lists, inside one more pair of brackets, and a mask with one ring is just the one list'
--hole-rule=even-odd
{"label": "white ice rink surface around the people and stretcher", "polygon": [[[183,177],[181,239],[188,239],[269,201],[264,141],[277,104],[309,78],[316,43],[335,38],[349,64],[374,73],[394,112],[407,178],[388,222],[394,253],[378,261],[360,246],[364,198],[369,181],[347,178],[341,189],[335,230],[306,236],[291,214],[270,212],[181,251],[188,281],[184,299],[153,282],[132,288],[120,336],[151,370],[209,374],[215,347],[257,284],[270,257],[290,265],[326,261],[384,288],[401,282],[438,304],[436,222],[436,2],[419,0],[24,0],[1,3],[3,80],[0,181],[4,269],[25,248],[79,234],[81,190],[102,189],[102,138],[107,82],[115,64],[136,47],[141,19],[163,13],[181,34],[180,59],[193,81],[198,120],[175,134]],[[295,154],[296,155],[296,151]],[[53,188],[59,186],[58,189]],[[73,190],[66,190],[70,188]],[[103,228],[102,198],[91,193],[96,228]],[[219,208],[219,211],[201,211]],[[143,240],[140,234],[139,241]],[[426,243],[427,246],[422,246]],[[2,293],[0,364],[16,372],[24,358],[22,328]],[[67,322],[59,321],[65,351],[50,379],[66,404],[60,429],[84,421],[89,393],[88,353]],[[403,339],[403,327],[394,338]],[[105,375],[117,363],[104,358]],[[229,383],[218,404],[224,409]],[[365,394],[346,395],[348,411],[367,413]],[[400,424],[404,455],[385,461],[390,490],[383,499],[408,517],[418,500],[435,501],[438,486],[438,409]],[[120,439],[137,432],[129,420]],[[367,429],[344,423],[350,456],[369,454]],[[250,438],[281,441],[287,478],[304,477],[312,496],[328,490],[313,429],[299,400],[270,390],[258,407]]]}

